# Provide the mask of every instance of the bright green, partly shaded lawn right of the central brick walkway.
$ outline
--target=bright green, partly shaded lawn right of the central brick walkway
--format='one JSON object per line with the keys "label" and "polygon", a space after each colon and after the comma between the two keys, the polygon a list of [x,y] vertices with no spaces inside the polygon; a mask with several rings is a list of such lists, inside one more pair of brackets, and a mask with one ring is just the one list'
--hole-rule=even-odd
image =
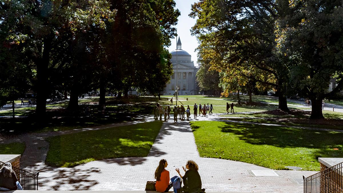
{"label": "bright green, partly shaded lawn right of the central brick walkway", "polygon": [[217,121],[192,121],[191,127],[201,157],[319,171],[318,157],[343,156],[343,133],[338,132]]}

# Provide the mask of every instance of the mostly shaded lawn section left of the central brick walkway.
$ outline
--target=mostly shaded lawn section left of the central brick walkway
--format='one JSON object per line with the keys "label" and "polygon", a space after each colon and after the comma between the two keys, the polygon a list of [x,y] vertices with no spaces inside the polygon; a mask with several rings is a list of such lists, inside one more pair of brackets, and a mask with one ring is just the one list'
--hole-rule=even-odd
{"label": "mostly shaded lawn section left of the central brick walkway", "polygon": [[47,138],[48,166],[74,167],[94,160],[146,157],[162,122],[140,123]]}

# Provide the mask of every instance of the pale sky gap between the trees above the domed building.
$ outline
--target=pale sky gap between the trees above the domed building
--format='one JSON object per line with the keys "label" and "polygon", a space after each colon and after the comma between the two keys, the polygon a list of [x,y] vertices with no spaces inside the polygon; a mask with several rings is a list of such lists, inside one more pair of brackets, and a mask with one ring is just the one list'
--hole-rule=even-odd
{"label": "pale sky gap between the trees above the domed building", "polygon": [[[198,41],[195,36],[191,36],[190,29],[195,24],[196,19],[192,19],[188,16],[191,12],[191,4],[197,1],[193,0],[174,0],[176,3],[176,9],[179,9],[181,15],[178,17],[177,25],[174,26],[177,29],[178,38],[180,37],[182,43],[182,49],[188,52],[192,56],[192,60],[194,61],[194,65],[198,66],[197,64],[197,52],[194,50],[198,47]],[[176,39],[170,39],[171,46],[167,49],[169,52],[176,49]]]}

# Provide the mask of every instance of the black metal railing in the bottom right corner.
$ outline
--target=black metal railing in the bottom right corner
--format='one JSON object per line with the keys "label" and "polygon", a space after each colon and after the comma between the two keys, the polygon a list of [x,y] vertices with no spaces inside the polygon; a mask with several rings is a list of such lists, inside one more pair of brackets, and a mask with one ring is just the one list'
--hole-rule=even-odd
{"label": "black metal railing in the bottom right corner", "polygon": [[343,192],[343,162],[323,171],[303,176],[304,193],[341,193]]}

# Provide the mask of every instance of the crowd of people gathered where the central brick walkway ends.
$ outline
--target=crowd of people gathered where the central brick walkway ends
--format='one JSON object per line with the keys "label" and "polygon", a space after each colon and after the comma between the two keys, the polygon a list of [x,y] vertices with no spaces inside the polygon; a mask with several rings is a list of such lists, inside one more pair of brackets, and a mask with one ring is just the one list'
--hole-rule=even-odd
{"label": "crowd of people gathered where the central brick walkway ends", "polygon": [[[186,106],[186,105],[185,105]],[[170,112],[173,111],[174,114],[174,122],[177,122],[178,118],[179,120],[186,120],[189,121],[189,117],[191,114],[191,109],[189,107],[189,105],[187,105],[187,107],[185,107],[184,105],[175,105],[173,109],[170,108],[170,106],[165,106],[164,108],[162,107],[162,105],[159,105],[158,103],[155,106],[154,109],[154,119],[162,121],[162,116],[164,115],[164,121],[167,121],[167,119],[170,118]],[[201,103],[199,103],[199,116],[206,116],[206,114],[210,114],[212,115],[212,110],[214,110],[213,105],[209,105],[209,103],[207,103],[207,105],[201,105]],[[198,105],[197,103],[194,103],[193,106],[193,114],[194,114],[194,119],[197,119],[198,116]],[[186,114],[186,117],[185,117]]]}

